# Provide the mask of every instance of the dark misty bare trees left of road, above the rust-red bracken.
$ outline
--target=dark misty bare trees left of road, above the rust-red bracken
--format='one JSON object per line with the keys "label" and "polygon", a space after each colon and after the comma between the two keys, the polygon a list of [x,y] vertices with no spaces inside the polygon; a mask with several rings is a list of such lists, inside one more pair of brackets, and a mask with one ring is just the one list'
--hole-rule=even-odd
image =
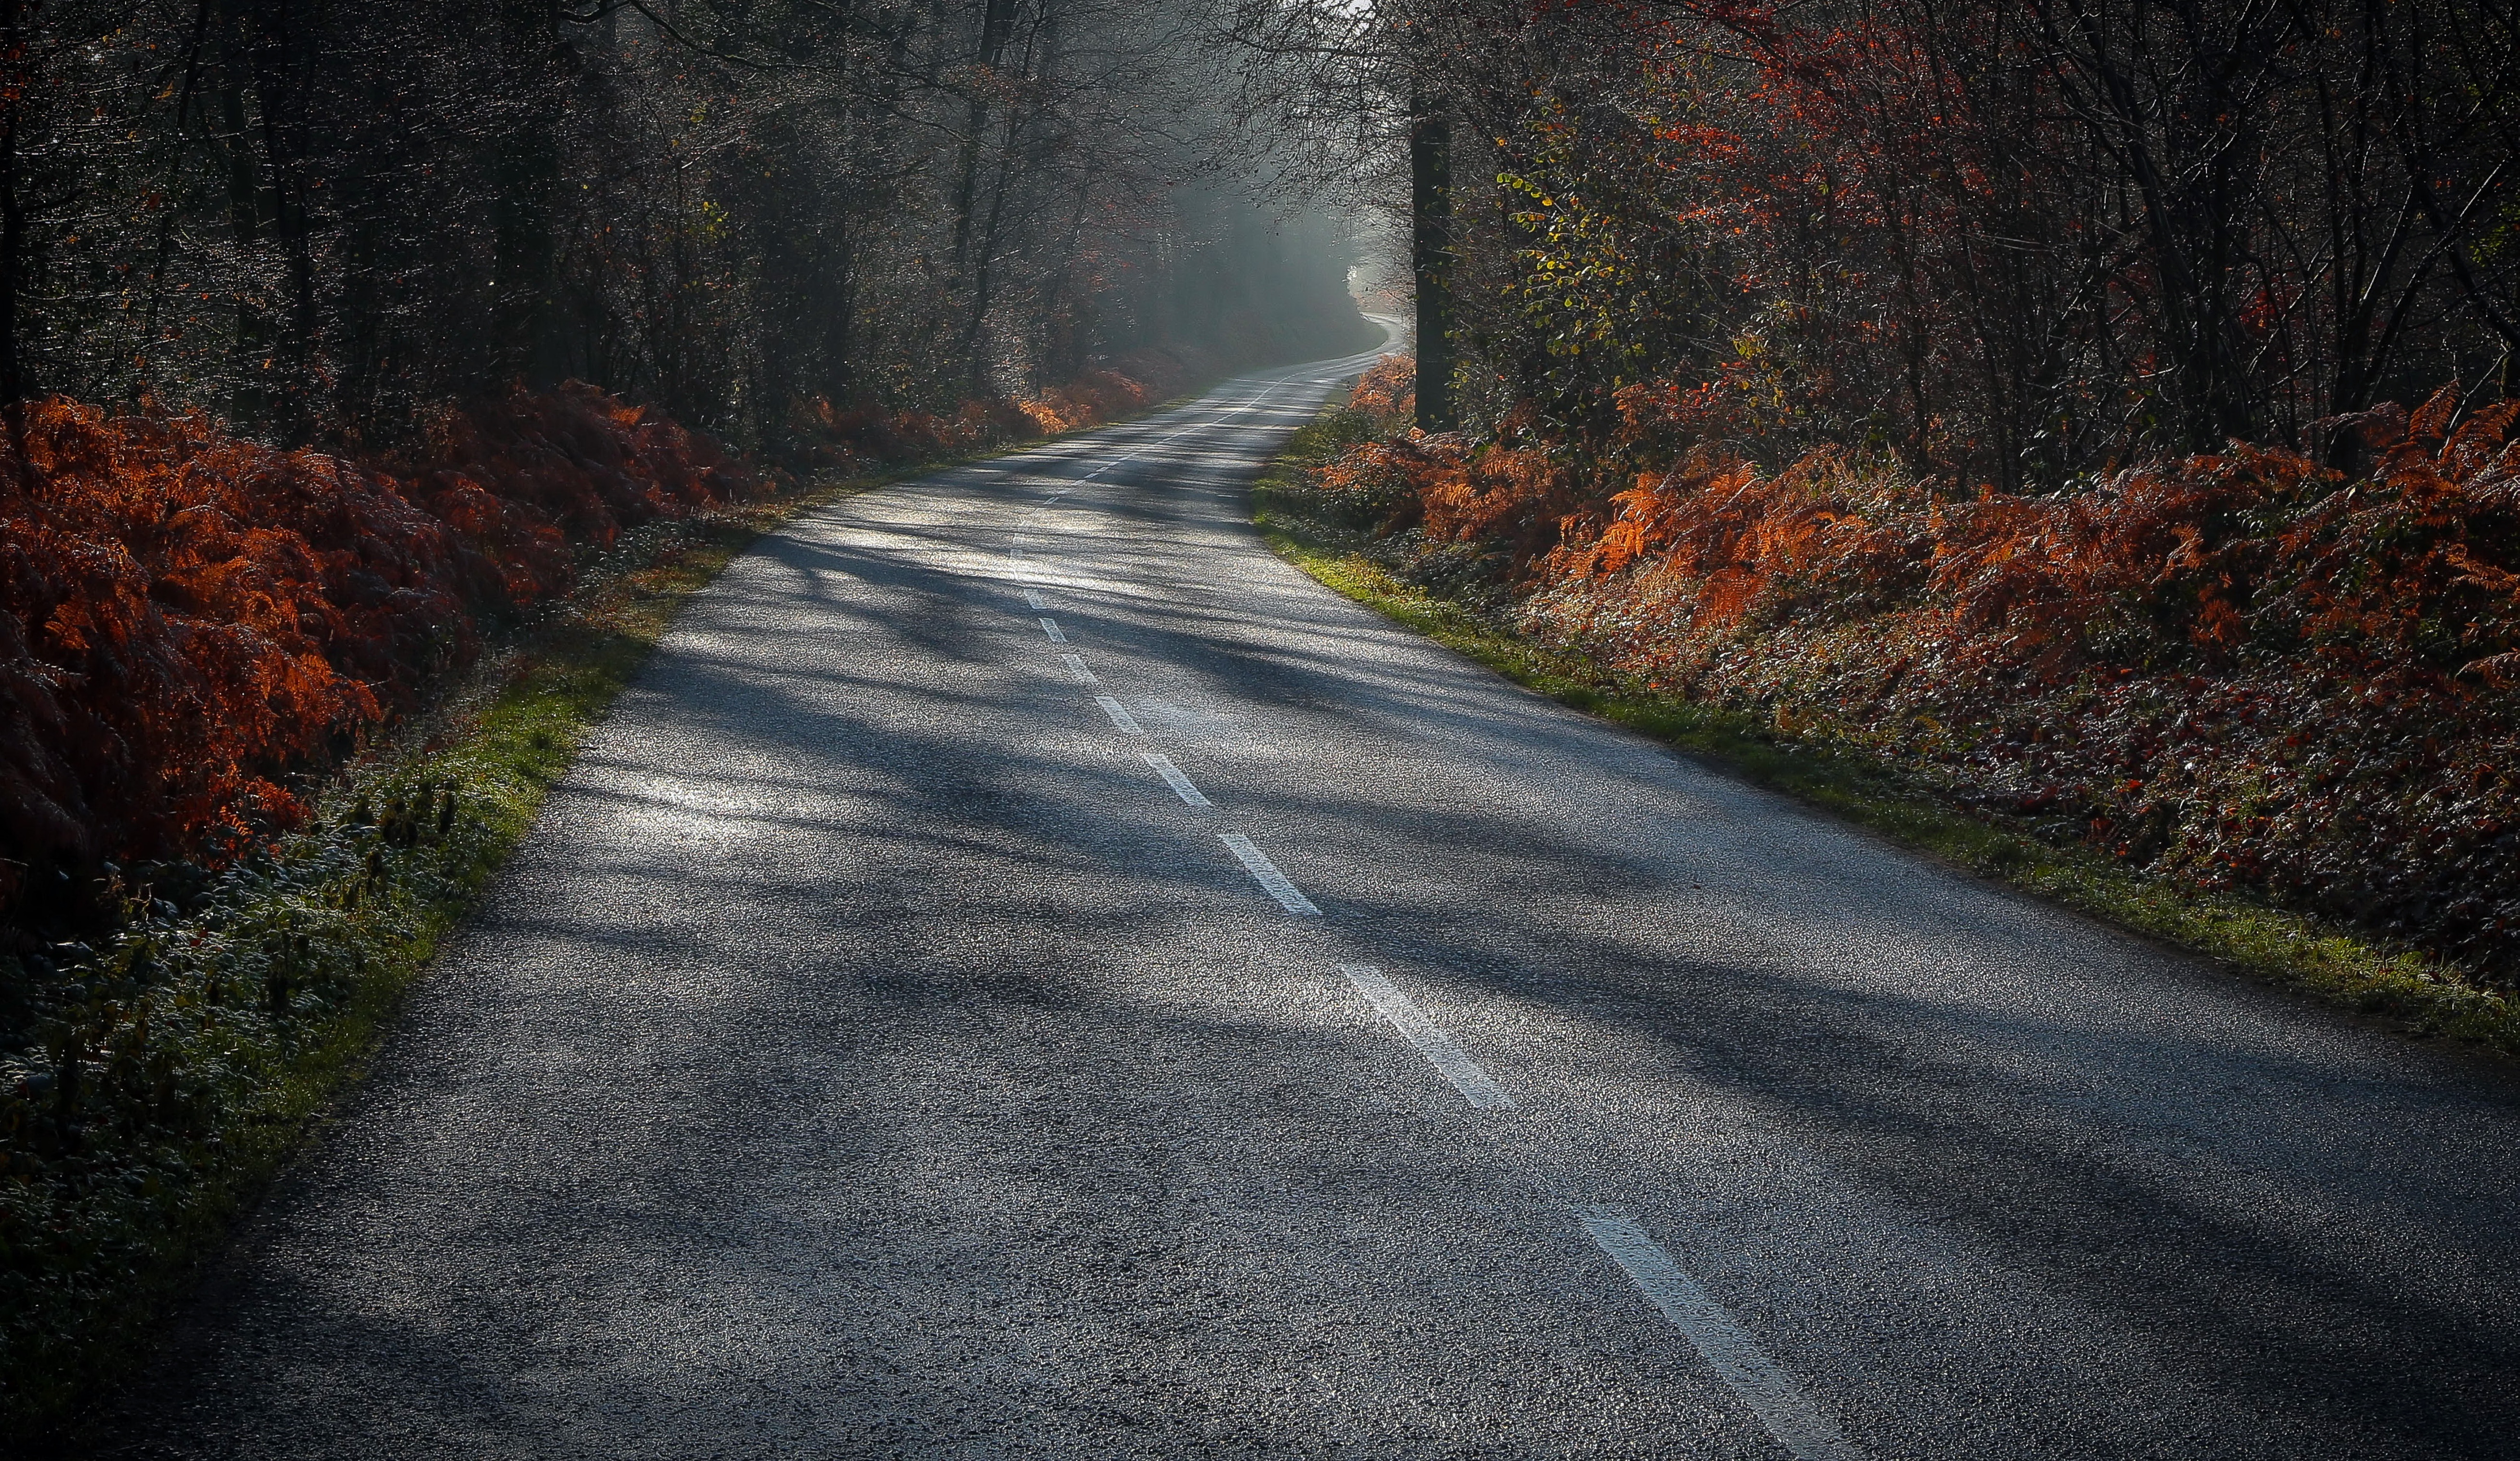
{"label": "dark misty bare trees left of road, above the rust-red bracken", "polygon": [[746,446],[1353,348],[1215,28],[1109,0],[5,0],[0,390],[391,443],[582,378]]}

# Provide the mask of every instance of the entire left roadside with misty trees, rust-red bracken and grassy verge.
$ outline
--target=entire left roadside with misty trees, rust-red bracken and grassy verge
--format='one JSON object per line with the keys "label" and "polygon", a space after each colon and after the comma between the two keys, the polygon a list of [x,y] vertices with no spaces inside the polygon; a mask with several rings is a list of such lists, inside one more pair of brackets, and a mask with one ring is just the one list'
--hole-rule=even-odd
{"label": "entire left roadside with misty trees, rust-red bracken and grassy verge", "polygon": [[751,534],[1378,338],[1232,55],[0,0],[0,1431],[113,1383]]}

